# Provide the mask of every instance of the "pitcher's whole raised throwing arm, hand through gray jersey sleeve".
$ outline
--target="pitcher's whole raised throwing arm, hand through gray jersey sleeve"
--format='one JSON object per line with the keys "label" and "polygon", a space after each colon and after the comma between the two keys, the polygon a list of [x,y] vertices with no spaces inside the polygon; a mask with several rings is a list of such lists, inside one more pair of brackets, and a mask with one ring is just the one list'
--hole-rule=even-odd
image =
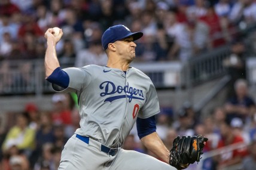
{"label": "pitcher's whole raised throwing arm, hand through gray jersey sleeve", "polygon": [[44,63],[45,76],[47,81],[53,84],[53,89],[56,91],[78,92],[90,84],[91,73],[88,71],[88,67],[69,67],[63,70],[60,68],[56,54],[56,44],[62,35],[63,32],[61,29],[57,36],[53,36],[53,29],[48,29],[45,32],[44,36],[47,39]]}

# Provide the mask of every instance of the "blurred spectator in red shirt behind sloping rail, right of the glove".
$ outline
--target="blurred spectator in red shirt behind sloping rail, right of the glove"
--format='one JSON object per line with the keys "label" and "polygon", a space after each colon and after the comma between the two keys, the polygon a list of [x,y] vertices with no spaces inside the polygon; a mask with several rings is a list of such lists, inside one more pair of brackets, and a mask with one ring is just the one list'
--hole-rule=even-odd
{"label": "blurred spectator in red shirt behind sloping rail, right of the glove", "polygon": [[[233,129],[230,126],[230,121],[225,121],[220,125],[221,140],[218,143],[218,149],[222,147],[230,146],[231,144],[244,143],[243,138],[240,135],[233,133]],[[232,150],[230,152],[221,153],[218,156],[218,169],[223,169],[227,166],[236,165],[241,163],[243,157],[248,154],[246,147]]]}

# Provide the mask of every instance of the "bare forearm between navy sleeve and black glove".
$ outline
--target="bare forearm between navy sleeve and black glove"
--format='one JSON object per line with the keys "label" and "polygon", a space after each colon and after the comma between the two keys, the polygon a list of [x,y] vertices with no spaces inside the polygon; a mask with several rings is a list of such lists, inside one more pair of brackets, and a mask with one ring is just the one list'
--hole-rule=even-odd
{"label": "bare forearm between navy sleeve and black glove", "polygon": [[156,154],[164,162],[169,163],[170,152],[156,132],[141,138],[141,141],[148,150]]}

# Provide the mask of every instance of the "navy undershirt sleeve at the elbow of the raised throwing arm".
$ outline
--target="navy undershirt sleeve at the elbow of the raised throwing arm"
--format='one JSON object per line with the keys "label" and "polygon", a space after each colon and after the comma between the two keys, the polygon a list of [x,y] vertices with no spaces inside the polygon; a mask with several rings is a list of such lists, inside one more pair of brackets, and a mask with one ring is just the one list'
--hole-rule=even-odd
{"label": "navy undershirt sleeve at the elbow of the raised throwing arm", "polygon": [[68,73],[64,72],[60,67],[57,67],[50,76],[48,76],[47,81],[67,88],[69,85],[69,76]]}

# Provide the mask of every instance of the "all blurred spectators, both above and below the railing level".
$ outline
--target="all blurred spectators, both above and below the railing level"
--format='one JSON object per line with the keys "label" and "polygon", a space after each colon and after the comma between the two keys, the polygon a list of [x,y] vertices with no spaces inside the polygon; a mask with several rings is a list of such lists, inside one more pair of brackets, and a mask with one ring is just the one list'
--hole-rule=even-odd
{"label": "all blurred spectators, both above and below the railing level", "polygon": [[[238,32],[255,21],[254,0],[1,0],[0,73],[8,72],[8,61],[44,58],[44,32],[49,27],[57,26],[64,32],[57,44],[60,62],[65,66],[74,61],[81,67],[105,65],[101,36],[113,24],[144,32],[136,42],[137,62],[187,61],[225,44],[233,44],[232,52],[240,54],[245,49],[236,42]],[[31,67],[26,63],[20,70],[27,73]],[[189,101],[178,110],[161,107],[157,132],[168,149],[176,135],[205,135],[209,142],[204,152],[243,143],[246,147],[204,160],[203,169],[223,169],[237,163],[244,170],[255,169],[256,106],[246,81],[233,79],[232,95],[207,116],[196,113]],[[11,81],[8,76],[1,78],[0,89]],[[53,170],[59,165],[63,146],[79,128],[80,117],[73,94],[54,94],[51,100],[52,110],[39,110],[39,103],[28,103],[20,113],[0,115],[0,169]],[[123,147],[154,156],[141,145],[135,128]]]}

